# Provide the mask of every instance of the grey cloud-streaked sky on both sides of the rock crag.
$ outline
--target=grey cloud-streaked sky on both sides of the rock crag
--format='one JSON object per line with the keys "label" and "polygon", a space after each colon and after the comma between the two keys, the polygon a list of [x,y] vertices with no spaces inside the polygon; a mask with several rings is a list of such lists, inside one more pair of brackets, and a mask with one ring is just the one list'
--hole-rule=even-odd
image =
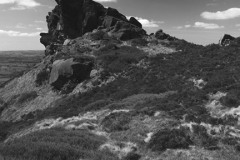
{"label": "grey cloud-streaked sky on both sides of the rock crag", "polygon": [[[150,34],[207,45],[223,34],[240,36],[240,0],[95,0],[136,17]],[[55,0],[0,0],[0,50],[44,50],[41,32]]]}

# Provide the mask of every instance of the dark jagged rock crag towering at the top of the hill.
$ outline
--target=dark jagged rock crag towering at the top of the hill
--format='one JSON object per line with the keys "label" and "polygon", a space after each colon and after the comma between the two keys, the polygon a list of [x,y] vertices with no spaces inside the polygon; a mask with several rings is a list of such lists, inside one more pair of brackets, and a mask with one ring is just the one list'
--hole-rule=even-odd
{"label": "dark jagged rock crag towering at the top of the hill", "polygon": [[99,26],[111,28],[119,21],[131,24],[131,30],[137,28],[142,30],[141,34],[146,34],[141,29],[141,23],[135,18],[132,17],[128,21],[116,9],[105,8],[92,0],[56,0],[56,2],[58,5],[46,17],[48,33],[41,33],[40,42],[45,47],[51,42],[62,44],[66,38],[80,37]]}

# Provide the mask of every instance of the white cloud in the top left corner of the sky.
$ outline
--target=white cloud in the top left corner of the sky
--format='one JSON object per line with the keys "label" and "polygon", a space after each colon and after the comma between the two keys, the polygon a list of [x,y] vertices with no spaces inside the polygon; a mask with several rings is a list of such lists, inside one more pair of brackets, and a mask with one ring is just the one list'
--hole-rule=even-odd
{"label": "white cloud in the top left corner of the sky", "polygon": [[0,0],[0,4],[14,4],[10,10],[25,10],[40,6],[35,0]]}

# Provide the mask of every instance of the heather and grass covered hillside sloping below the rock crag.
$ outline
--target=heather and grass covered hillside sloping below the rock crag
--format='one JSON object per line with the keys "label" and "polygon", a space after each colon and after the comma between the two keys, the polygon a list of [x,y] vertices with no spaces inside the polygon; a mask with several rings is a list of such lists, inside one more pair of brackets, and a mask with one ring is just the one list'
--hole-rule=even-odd
{"label": "heather and grass covered hillside sloping below the rock crag", "polygon": [[[0,90],[3,158],[240,159],[238,39],[204,47],[89,37]],[[56,90],[51,60],[69,56],[94,57],[91,77]]]}

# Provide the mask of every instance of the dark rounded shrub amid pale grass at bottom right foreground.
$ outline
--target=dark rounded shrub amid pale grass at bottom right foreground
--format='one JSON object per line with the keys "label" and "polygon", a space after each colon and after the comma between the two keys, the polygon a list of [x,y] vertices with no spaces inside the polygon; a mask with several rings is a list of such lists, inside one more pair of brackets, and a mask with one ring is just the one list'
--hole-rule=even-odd
{"label": "dark rounded shrub amid pale grass at bottom right foreground", "polygon": [[164,129],[155,133],[148,147],[152,151],[165,151],[166,149],[187,149],[192,144],[186,129]]}

